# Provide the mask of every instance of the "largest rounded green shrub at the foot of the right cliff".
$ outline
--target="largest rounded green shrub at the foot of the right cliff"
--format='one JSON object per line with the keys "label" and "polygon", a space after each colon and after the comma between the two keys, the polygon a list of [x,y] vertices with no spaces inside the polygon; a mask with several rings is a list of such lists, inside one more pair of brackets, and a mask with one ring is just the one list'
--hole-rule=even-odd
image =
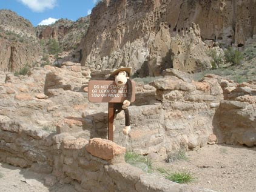
{"label": "largest rounded green shrub at the foot of the right cliff", "polygon": [[229,47],[224,51],[224,57],[226,62],[231,62],[232,65],[239,65],[243,60],[242,53],[238,50],[234,50],[232,47]]}

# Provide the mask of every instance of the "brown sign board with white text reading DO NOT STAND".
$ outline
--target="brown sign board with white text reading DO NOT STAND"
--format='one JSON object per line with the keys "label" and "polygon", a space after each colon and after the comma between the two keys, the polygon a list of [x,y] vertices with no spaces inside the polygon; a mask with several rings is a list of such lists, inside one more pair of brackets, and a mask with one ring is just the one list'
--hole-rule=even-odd
{"label": "brown sign board with white text reading DO NOT STAND", "polygon": [[[127,85],[118,87],[115,81],[89,81],[88,98],[90,102],[123,102],[127,98]],[[135,101],[135,82],[132,81],[132,99]]]}

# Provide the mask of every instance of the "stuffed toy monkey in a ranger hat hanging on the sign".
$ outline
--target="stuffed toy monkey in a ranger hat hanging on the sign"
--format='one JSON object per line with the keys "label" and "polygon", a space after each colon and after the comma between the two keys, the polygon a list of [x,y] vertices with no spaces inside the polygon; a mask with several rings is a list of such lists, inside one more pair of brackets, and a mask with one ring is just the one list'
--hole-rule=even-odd
{"label": "stuffed toy monkey in a ranger hat hanging on the sign", "polygon": [[[123,129],[124,134],[128,134],[130,132],[130,115],[128,107],[130,106],[130,101],[132,98],[132,81],[129,78],[131,71],[132,67],[121,67],[113,71],[113,73],[110,74],[109,78],[106,79],[109,81],[115,81],[118,87],[124,87],[124,85],[127,84],[127,99],[123,103],[120,102],[113,104],[114,116],[124,110],[124,115],[126,119],[126,127],[124,127]],[[113,130],[115,130],[115,126],[113,127]]]}

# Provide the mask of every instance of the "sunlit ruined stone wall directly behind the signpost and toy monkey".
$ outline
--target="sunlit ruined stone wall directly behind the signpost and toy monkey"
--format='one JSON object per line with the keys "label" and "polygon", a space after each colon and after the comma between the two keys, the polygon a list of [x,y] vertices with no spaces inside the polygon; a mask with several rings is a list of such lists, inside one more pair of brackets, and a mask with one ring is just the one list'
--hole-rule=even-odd
{"label": "sunlit ruined stone wall directly behind the signpost and toy monkey", "polygon": [[[126,136],[124,113],[114,121],[114,141],[141,154],[169,153],[179,148],[203,147],[213,133],[212,118],[221,100],[223,90],[214,76],[202,82],[182,76],[166,75],[150,85],[136,85],[136,101],[129,107],[132,131]],[[183,74],[184,75],[184,74]],[[92,105],[92,104],[90,104]],[[82,118],[69,116],[58,122],[58,133],[81,134],[107,138],[107,105],[95,104],[83,112]],[[99,110],[101,108],[101,110]]]}

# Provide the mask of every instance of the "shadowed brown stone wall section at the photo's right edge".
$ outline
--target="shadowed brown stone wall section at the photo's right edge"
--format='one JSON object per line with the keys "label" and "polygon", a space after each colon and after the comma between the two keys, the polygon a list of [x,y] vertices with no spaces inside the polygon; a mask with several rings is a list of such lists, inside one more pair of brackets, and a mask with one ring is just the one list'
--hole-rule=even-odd
{"label": "shadowed brown stone wall section at the photo's right edge", "polygon": [[215,113],[215,134],[218,142],[256,145],[256,82],[237,84],[223,80],[224,101]]}

